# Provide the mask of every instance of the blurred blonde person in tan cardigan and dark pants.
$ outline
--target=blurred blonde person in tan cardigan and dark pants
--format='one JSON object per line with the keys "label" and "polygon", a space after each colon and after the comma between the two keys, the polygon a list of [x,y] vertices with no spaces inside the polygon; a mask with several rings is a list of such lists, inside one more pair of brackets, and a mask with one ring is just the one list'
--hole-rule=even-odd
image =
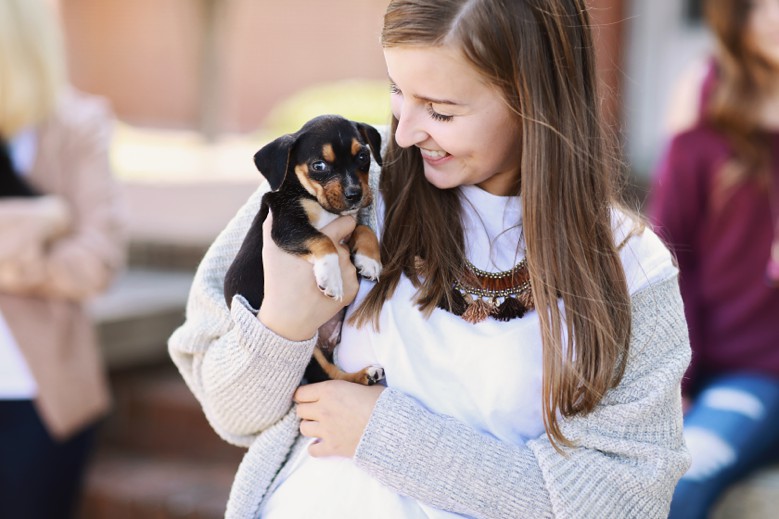
{"label": "blurred blonde person in tan cardigan and dark pants", "polygon": [[58,22],[43,0],[0,0],[0,174],[41,194],[0,198],[3,519],[71,516],[109,406],[84,303],[125,260],[113,115],[69,87]]}

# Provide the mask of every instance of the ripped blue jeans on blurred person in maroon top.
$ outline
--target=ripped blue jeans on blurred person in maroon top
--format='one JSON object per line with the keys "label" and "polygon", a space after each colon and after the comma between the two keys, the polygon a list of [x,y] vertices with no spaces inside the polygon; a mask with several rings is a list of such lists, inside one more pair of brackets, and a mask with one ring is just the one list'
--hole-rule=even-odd
{"label": "ripped blue jeans on blurred person in maroon top", "polygon": [[671,519],[704,519],[722,492],[779,459],[779,379],[710,380],[684,417],[692,465],[676,486]]}

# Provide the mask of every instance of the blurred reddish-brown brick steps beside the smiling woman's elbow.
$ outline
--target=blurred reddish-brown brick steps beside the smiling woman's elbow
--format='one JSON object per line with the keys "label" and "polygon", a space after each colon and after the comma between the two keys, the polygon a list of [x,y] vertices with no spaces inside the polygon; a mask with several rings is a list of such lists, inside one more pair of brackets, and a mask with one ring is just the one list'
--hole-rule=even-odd
{"label": "blurred reddish-brown brick steps beside the smiling woman's elbow", "polygon": [[217,519],[243,449],[222,441],[172,363],[111,372],[78,519]]}

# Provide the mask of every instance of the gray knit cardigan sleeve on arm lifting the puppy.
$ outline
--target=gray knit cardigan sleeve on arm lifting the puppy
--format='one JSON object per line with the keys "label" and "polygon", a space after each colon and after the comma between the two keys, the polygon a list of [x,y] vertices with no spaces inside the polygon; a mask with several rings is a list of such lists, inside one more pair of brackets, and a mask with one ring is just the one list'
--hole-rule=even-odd
{"label": "gray knit cardigan sleeve on arm lifting the puppy", "polygon": [[263,184],[204,256],[195,274],[186,320],[168,350],[214,430],[248,447],[261,432],[294,416],[292,394],[311,359],[317,336],[288,341],[263,326],[236,295],[224,301],[224,274],[259,210]]}

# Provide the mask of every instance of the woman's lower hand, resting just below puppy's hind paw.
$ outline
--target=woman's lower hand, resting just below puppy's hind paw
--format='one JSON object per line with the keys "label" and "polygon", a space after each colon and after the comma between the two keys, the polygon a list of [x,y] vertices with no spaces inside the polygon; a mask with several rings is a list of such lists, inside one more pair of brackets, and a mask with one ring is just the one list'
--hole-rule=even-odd
{"label": "woman's lower hand, resting just below puppy's hind paw", "polygon": [[311,444],[309,453],[315,458],[354,456],[384,389],[343,380],[300,386],[293,396],[302,420],[300,433],[319,440]]}

